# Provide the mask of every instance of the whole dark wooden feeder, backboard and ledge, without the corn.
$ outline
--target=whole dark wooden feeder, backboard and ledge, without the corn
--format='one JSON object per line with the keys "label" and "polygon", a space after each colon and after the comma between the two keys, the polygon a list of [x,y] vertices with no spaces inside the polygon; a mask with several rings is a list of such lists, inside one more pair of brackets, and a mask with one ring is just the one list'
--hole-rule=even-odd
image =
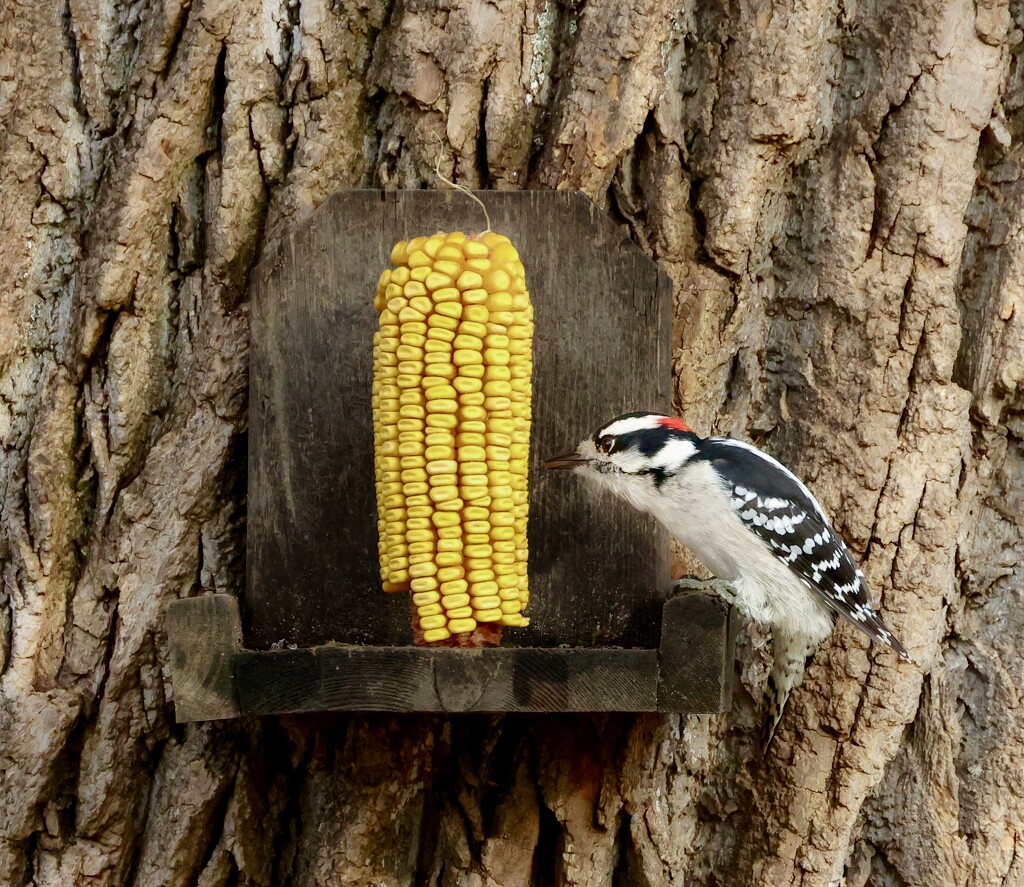
{"label": "whole dark wooden feeder, backboard and ledge, without the corn", "polygon": [[247,587],[171,604],[179,721],[327,710],[722,711],[732,621],[712,583],[669,599],[653,520],[545,458],[671,411],[671,285],[584,195],[479,193],[535,309],[529,587],[501,647],[412,646],[377,562],[373,294],[400,240],[483,227],[447,191],[349,191],[252,282]]}

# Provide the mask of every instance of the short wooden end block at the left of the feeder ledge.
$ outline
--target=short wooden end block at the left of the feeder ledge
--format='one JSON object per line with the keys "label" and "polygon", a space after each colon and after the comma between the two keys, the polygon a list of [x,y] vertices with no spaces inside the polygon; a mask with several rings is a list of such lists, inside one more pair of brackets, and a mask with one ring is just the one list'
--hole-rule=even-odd
{"label": "short wooden end block at the left of the feeder ledge", "polygon": [[175,600],[166,624],[177,722],[237,718],[231,663],[242,646],[238,600],[228,594]]}

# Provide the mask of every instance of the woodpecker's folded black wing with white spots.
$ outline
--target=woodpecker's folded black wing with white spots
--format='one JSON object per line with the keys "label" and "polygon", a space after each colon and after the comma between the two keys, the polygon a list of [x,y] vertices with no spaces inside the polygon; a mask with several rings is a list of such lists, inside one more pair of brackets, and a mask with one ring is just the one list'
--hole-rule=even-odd
{"label": "woodpecker's folded black wing with white spots", "polygon": [[863,574],[811,492],[788,469],[750,444],[718,437],[705,445],[701,458],[725,479],[730,504],[743,524],[830,609],[908,660],[903,645],[871,606]]}

